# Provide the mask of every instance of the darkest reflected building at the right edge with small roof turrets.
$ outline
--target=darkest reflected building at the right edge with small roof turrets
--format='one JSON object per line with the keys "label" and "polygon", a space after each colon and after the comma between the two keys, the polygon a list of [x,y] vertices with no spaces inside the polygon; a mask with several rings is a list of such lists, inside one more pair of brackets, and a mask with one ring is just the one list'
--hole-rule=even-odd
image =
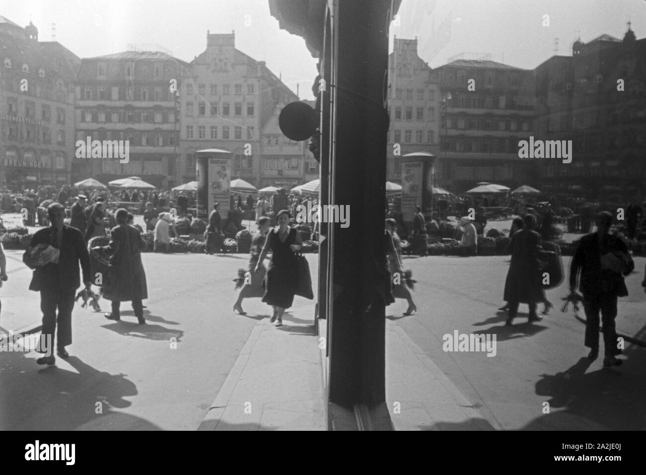
{"label": "darkest reflected building at the right edge with small roof turrets", "polygon": [[646,197],[646,38],[604,34],[536,68],[537,135],[572,141],[572,161],[539,160],[550,194]]}

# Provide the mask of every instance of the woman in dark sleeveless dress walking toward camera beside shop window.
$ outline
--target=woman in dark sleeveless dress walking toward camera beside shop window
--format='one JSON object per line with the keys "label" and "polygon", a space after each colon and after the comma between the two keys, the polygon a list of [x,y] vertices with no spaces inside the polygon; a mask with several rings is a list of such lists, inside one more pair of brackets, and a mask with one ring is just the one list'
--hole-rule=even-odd
{"label": "woman in dark sleeveless dress walking toward camera beside shop window", "polygon": [[265,245],[258,258],[255,272],[260,270],[262,262],[271,250],[271,261],[267,269],[267,291],[262,301],[274,308],[271,323],[276,321],[276,327],[282,327],[282,315],[286,308],[291,307],[298,285],[298,258],[303,243],[295,228],[289,227],[289,211],[280,210],[276,215],[278,226],[267,234]]}

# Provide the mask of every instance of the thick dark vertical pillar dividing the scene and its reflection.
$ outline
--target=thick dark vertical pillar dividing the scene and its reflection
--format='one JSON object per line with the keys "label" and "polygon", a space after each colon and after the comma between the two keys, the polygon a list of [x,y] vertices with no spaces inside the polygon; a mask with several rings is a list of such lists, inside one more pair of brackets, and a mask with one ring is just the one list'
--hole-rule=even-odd
{"label": "thick dark vertical pillar dividing the scene and its reflection", "polygon": [[[350,223],[329,226],[332,256],[329,399],[351,409],[385,401],[385,103],[390,0],[339,2],[333,28],[331,204]],[[386,413],[387,418],[387,413]],[[390,422],[389,422],[390,423]]]}

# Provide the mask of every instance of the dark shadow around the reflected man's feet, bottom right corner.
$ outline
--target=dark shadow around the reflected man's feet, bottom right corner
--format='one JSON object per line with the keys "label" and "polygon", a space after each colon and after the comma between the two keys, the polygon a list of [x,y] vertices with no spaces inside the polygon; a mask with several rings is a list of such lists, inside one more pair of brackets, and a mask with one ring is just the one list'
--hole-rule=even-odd
{"label": "dark shadow around the reflected man's feet, bottom right corner", "polygon": [[550,413],[534,419],[523,429],[646,429],[643,397],[646,355],[638,349],[630,350],[625,354],[631,358],[618,368],[599,368],[586,373],[590,365],[601,364],[601,349],[595,361],[583,357],[564,372],[542,374],[536,383],[536,394],[546,396],[543,406],[548,403]]}

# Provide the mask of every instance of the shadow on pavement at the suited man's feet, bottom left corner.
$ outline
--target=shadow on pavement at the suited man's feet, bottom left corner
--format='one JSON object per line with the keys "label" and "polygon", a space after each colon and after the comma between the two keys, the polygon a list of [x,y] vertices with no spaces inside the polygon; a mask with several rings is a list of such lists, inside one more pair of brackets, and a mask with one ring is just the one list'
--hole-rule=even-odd
{"label": "shadow on pavement at the suited man's feet, bottom left corner", "polygon": [[[115,412],[138,394],[124,374],[109,374],[76,356],[38,366],[25,352],[3,356],[0,430],[161,430],[145,419]],[[30,355],[33,355],[30,354]],[[71,365],[76,372],[64,369]]]}

